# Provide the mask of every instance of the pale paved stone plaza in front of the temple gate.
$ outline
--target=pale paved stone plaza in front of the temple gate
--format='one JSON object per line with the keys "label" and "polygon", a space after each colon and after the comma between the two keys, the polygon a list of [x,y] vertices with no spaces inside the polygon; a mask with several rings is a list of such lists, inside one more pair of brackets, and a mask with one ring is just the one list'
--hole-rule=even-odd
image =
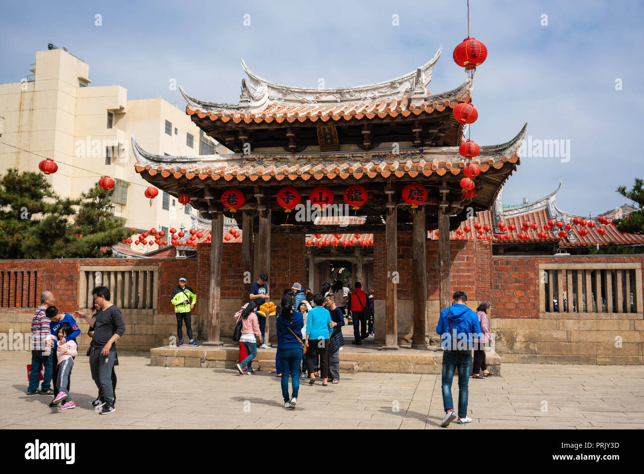
{"label": "pale paved stone plaza in front of the temple gate", "polygon": [[[298,408],[285,410],[274,373],[154,367],[144,355],[119,361],[117,411],[99,415],[88,357],[76,357],[71,375],[77,408],[60,412],[48,408],[52,397],[24,393],[28,353],[0,353],[0,428],[422,429],[440,428],[443,416],[440,375],[341,374],[336,385],[301,384]],[[644,428],[642,375],[641,366],[507,363],[502,377],[470,379],[473,422],[449,429]]]}

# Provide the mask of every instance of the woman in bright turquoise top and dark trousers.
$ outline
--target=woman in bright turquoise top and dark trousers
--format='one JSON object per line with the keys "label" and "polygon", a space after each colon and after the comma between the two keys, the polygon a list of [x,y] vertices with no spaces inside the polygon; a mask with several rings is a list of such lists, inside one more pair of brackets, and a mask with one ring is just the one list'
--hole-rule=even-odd
{"label": "woman in bright turquoise top and dark trousers", "polygon": [[[324,296],[316,294],[313,297],[313,302],[316,304],[315,308],[311,308],[307,317],[307,339],[305,344],[307,346],[307,368],[308,373],[311,374],[309,384],[316,383],[316,375],[314,372],[314,357],[317,347],[317,354],[320,357],[320,375],[322,377],[323,386],[327,386],[328,379],[328,339],[331,337],[333,330],[329,329],[328,324],[331,322],[331,313],[328,309],[323,307]],[[331,332],[329,332],[329,330]],[[308,340],[312,339],[312,343]]]}

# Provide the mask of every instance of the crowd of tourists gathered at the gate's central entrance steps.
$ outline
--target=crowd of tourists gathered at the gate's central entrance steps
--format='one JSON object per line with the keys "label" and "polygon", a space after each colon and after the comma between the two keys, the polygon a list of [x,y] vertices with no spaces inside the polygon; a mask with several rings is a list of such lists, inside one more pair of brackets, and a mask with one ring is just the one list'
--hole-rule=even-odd
{"label": "crowd of tourists gathered at the gate's central entrance steps", "polygon": [[[283,291],[274,315],[261,310],[270,299],[266,273],[249,290],[249,302],[235,314],[234,341],[239,342],[240,357],[236,365],[241,375],[255,371],[252,361],[260,348],[269,348],[265,338],[266,319],[275,318],[277,351],[276,375],[281,377],[284,408],[294,409],[298,403],[300,379],[313,385],[321,379],[323,386],[340,382],[340,356],[345,339],[345,319],[354,327],[353,344],[374,335],[373,292],[366,294],[361,283],[350,285],[336,280],[325,283],[317,293],[304,289],[300,283]],[[289,378],[292,390],[289,394]]]}

